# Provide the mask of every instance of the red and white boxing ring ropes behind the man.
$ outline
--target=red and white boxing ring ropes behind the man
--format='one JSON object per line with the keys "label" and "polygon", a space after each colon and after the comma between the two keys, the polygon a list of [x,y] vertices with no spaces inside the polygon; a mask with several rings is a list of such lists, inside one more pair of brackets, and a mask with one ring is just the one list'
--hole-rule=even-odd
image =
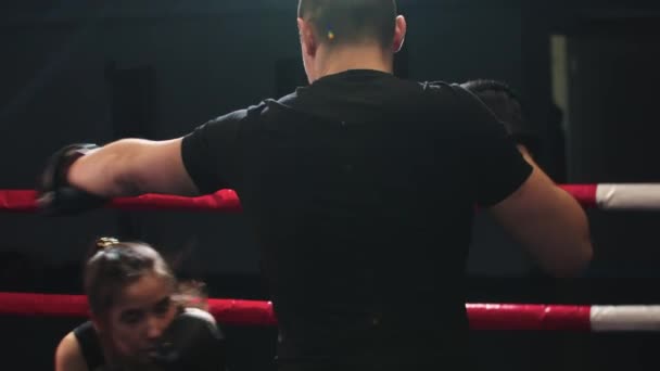
{"label": "red and white boxing ring ropes behind the man", "polygon": [[[561,184],[585,208],[660,210],[660,183]],[[33,190],[0,190],[0,212],[36,213]],[[232,190],[198,197],[145,194],[112,200],[107,208],[123,210],[241,212]],[[269,302],[211,298],[218,322],[232,325],[277,324]],[[575,332],[660,331],[660,305],[466,304],[472,330]],[[0,316],[86,317],[82,295],[0,293]]]}

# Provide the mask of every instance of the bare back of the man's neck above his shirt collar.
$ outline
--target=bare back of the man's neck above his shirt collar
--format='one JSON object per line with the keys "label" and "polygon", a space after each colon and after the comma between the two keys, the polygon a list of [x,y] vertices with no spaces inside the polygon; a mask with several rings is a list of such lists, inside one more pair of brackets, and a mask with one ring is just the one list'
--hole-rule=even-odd
{"label": "bare back of the man's neck above his shirt collar", "polygon": [[317,79],[350,69],[373,69],[392,74],[393,55],[380,46],[319,48],[316,63]]}

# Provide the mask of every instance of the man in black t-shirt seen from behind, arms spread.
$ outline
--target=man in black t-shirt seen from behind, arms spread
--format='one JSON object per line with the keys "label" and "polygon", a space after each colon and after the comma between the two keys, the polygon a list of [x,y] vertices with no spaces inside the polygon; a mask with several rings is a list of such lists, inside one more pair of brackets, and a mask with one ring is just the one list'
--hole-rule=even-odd
{"label": "man in black t-shirt seen from behind, arms spread", "polygon": [[584,212],[471,93],[392,75],[406,34],[394,1],[301,0],[297,24],[308,87],[183,138],[68,146],[42,206],[232,188],[262,248],[280,370],[455,369],[475,205],[557,276],[591,258]]}

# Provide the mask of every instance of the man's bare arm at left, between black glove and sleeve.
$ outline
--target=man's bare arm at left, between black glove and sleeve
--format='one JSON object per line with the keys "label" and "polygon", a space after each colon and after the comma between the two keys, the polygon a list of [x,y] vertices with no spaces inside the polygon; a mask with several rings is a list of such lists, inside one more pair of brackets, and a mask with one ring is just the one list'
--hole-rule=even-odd
{"label": "man's bare arm at left, between black glove and sleeve", "polygon": [[90,151],[73,163],[71,186],[103,197],[143,193],[196,195],[181,157],[182,138],[123,139]]}

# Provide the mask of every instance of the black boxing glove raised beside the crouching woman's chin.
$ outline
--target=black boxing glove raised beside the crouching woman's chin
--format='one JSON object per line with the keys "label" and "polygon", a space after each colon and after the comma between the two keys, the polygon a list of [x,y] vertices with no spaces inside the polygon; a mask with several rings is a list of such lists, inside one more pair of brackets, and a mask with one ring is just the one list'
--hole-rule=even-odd
{"label": "black boxing glove raised beside the crouching woman's chin", "polygon": [[187,309],[161,336],[152,360],[166,371],[223,371],[225,337],[208,312]]}

